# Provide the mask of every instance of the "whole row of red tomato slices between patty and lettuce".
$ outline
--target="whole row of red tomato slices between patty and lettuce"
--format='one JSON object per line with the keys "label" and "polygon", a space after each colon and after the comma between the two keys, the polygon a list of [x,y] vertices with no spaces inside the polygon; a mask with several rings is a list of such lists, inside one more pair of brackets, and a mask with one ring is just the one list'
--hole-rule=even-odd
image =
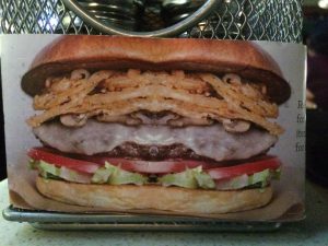
{"label": "whole row of red tomato slices between patty and lettuce", "polygon": [[27,155],[34,160],[43,160],[56,166],[65,166],[67,168],[86,174],[95,173],[97,168],[105,164],[105,162],[108,162],[112,165],[120,166],[120,168],[130,172],[159,175],[179,173],[184,172],[186,168],[202,166],[202,169],[204,169],[215,180],[231,178],[243,174],[250,175],[267,168],[277,169],[281,165],[280,161],[274,156],[266,156],[233,166],[222,166],[220,163],[208,163],[204,161],[192,160],[167,160],[151,162],[89,155],[75,155],[74,157],[68,157],[63,156],[63,153],[61,152],[47,148],[31,149]]}

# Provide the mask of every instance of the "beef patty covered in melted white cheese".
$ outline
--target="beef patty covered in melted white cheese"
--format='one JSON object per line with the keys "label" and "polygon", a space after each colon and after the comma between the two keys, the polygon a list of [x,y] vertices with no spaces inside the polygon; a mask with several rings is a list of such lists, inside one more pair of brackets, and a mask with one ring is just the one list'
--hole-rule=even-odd
{"label": "beef patty covered in melted white cheese", "polygon": [[250,128],[227,132],[221,124],[211,126],[125,126],[89,119],[80,128],[50,121],[34,128],[46,145],[67,153],[131,156],[149,160],[171,157],[243,160],[266,152],[277,142],[269,132]]}

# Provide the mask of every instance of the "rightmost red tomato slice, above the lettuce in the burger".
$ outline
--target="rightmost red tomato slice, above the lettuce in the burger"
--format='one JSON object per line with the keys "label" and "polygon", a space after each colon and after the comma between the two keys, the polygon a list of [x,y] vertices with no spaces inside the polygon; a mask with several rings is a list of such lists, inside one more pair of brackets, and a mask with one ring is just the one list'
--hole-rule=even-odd
{"label": "rightmost red tomato slice, above the lettuce in the burger", "polygon": [[235,166],[225,166],[208,169],[207,173],[213,179],[224,179],[241,176],[243,174],[251,175],[263,169],[277,169],[281,166],[281,162],[276,156],[266,156],[263,159],[248,162]]}

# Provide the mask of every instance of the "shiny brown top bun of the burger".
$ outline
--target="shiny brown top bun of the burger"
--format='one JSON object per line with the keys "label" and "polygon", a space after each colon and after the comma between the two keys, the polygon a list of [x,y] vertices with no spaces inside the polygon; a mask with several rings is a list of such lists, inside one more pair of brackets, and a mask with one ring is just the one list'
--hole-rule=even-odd
{"label": "shiny brown top bun of the burger", "polygon": [[46,46],[23,77],[22,87],[35,95],[46,78],[78,68],[236,72],[266,83],[269,96],[277,103],[291,94],[279,66],[250,42],[86,35],[62,36]]}

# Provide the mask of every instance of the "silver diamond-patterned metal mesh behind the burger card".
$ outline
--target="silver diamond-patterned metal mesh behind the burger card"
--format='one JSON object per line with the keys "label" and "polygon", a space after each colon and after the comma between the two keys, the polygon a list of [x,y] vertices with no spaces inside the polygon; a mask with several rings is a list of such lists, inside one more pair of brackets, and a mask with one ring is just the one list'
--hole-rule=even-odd
{"label": "silver diamond-patterned metal mesh behind the burger card", "polygon": [[[0,3],[2,33],[99,34],[60,0],[1,0]],[[300,43],[301,30],[301,0],[225,0],[208,19],[181,36]]]}

